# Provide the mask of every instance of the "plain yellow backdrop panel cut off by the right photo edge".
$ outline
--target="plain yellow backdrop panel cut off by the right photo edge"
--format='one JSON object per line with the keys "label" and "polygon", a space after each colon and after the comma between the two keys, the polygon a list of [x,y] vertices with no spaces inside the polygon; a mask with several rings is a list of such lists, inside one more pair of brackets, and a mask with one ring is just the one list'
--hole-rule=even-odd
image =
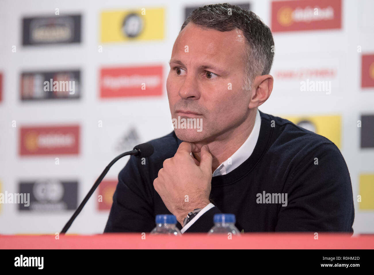
{"label": "plain yellow backdrop panel cut off by the right photo edge", "polygon": [[360,175],[358,195],[361,195],[360,209],[374,210],[374,174]]}

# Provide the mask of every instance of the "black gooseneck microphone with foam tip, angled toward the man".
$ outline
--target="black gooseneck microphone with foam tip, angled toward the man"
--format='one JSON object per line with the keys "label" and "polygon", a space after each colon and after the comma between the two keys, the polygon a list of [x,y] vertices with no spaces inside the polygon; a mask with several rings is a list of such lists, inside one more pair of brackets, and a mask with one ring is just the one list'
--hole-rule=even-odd
{"label": "black gooseneck microphone with foam tip, angled toward the man", "polygon": [[99,186],[102,179],[105,177],[105,175],[109,171],[110,167],[116,161],[118,161],[120,158],[122,158],[124,156],[128,156],[128,155],[133,155],[133,156],[136,156],[137,158],[147,158],[147,157],[151,156],[153,154],[153,152],[154,152],[154,148],[153,148],[152,144],[142,143],[142,144],[139,144],[139,145],[135,146],[133,150],[131,150],[129,152],[122,153],[121,155],[116,156],[116,158],[114,158],[113,161],[111,161],[110,164],[108,164],[108,166],[105,167],[104,171],[102,171],[101,175],[97,178],[97,180],[93,184],[91,190],[85,196],[85,198],[83,199],[83,201],[81,202],[81,204],[79,205],[77,210],[74,212],[73,216],[71,216],[70,220],[68,220],[68,222],[65,224],[64,228],[61,230],[61,234],[66,233],[66,231],[69,229],[69,227],[71,226],[71,224],[73,223],[75,218],[78,216],[80,211],[82,211],[83,207],[85,206],[88,199],[91,197],[92,193]]}

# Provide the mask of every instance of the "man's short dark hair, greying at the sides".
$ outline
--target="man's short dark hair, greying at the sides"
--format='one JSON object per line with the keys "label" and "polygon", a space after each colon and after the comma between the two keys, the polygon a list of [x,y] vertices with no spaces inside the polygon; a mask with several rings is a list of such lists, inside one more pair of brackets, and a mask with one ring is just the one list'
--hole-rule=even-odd
{"label": "man's short dark hair, greying at the sides", "polygon": [[242,89],[249,90],[254,78],[269,74],[274,58],[274,40],[270,28],[254,13],[237,5],[213,4],[198,7],[184,21],[181,31],[188,23],[218,31],[238,28],[248,42]]}

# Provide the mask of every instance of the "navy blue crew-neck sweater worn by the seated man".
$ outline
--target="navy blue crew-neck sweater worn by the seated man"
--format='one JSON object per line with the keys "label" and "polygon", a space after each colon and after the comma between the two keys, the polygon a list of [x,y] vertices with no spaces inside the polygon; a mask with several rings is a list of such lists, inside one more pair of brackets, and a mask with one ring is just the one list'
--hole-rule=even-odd
{"label": "navy blue crew-neck sweater worn by the seated man", "polygon": [[[215,207],[185,233],[208,232],[216,213],[235,214],[235,225],[244,232],[353,233],[352,184],[339,149],[289,120],[261,111],[260,115],[260,135],[251,156],[228,174],[212,178],[209,200]],[[153,180],[181,142],[173,131],[150,141],[154,153],[145,164],[131,156],[119,173],[104,232],[150,232],[156,215],[171,214]],[[271,201],[269,195],[266,203],[258,195],[267,193],[287,194],[287,205]],[[182,228],[180,223],[177,227]]]}

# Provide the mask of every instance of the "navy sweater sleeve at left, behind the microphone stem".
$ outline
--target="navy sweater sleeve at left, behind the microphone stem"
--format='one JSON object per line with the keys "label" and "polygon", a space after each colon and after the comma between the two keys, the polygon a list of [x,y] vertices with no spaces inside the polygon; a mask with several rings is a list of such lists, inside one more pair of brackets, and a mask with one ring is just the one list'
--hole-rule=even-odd
{"label": "navy sweater sleeve at left, behind the microphone stem", "polygon": [[131,156],[118,175],[118,184],[113,195],[104,233],[150,232],[154,226],[152,197],[147,192],[146,169],[139,171],[139,160]]}

